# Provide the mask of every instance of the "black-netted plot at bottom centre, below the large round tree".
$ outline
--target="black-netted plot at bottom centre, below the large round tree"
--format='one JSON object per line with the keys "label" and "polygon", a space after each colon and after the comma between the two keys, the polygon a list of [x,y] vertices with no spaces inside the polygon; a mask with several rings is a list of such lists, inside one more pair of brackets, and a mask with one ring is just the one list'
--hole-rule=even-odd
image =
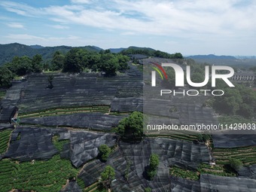
{"label": "black-netted plot at bottom centre, below the large round tree", "polygon": [[[160,166],[154,181],[148,181],[145,179],[145,168],[152,153],[160,157]],[[208,163],[209,160],[211,157],[206,145],[172,139],[145,139],[139,144],[120,142],[119,149],[111,154],[106,163],[99,160],[87,163],[78,177],[86,186],[93,184],[98,181],[104,167],[111,165],[117,174],[117,180],[113,181],[114,191],[144,191],[145,187],[151,187],[154,191],[169,191],[169,166],[178,164],[196,168],[200,163]],[[130,168],[126,177],[128,162]]]}

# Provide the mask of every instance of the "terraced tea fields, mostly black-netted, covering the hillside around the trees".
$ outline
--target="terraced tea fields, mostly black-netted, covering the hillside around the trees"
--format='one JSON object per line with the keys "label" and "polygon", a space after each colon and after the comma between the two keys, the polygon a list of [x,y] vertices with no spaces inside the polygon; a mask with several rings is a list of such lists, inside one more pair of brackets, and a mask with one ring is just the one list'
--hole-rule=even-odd
{"label": "terraced tea fields, mostly black-netted, covering the hillside around the trees", "polygon": [[[172,62],[151,58],[148,62]],[[256,141],[254,136],[214,135],[209,143],[198,142],[197,132],[173,131],[144,136],[142,142],[123,142],[114,133],[120,120],[133,111],[148,110],[151,123],[218,123],[212,108],[203,104],[208,97],[169,96],[169,101],[142,95],[142,72],[130,66],[126,74],[106,78],[96,74],[53,74],[49,88],[47,74],[29,75],[7,90],[0,112],[0,191],[102,192],[100,175],[105,166],[114,168],[114,192],[162,191],[254,191]],[[154,105],[154,110],[145,108]],[[19,108],[20,124],[10,124]],[[3,110],[4,109],[4,110]],[[159,119],[158,116],[164,116]],[[212,142],[213,141],[213,142]],[[99,147],[108,145],[106,162]],[[213,145],[213,146],[212,146]],[[151,154],[160,164],[153,181],[145,170]],[[242,161],[231,177],[222,169],[229,158]],[[217,166],[209,163],[215,161]],[[194,181],[184,176],[197,174]],[[221,168],[220,168],[221,167]],[[180,171],[180,172],[179,172]],[[182,175],[181,171],[186,174]],[[192,175],[194,176],[194,175]],[[227,175],[229,176],[229,175]],[[238,176],[238,177],[236,177]]]}

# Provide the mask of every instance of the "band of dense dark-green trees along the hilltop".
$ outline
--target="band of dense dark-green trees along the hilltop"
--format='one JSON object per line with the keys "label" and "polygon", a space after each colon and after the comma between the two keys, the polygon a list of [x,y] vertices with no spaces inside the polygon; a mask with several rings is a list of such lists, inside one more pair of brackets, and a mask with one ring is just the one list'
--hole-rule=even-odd
{"label": "band of dense dark-green trees along the hilltop", "polygon": [[93,51],[87,48],[72,48],[67,53],[56,50],[50,59],[44,59],[41,54],[29,56],[14,56],[11,62],[6,62],[0,70],[0,87],[10,87],[14,76],[28,75],[32,72],[105,72],[106,76],[116,75],[128,69],[129,54],[144,53],[147,56],[163,58],[182,58],[181,53],[169,54],[160,50],[143,48],[128,48],[121,53],[111,53],[110,50]]}

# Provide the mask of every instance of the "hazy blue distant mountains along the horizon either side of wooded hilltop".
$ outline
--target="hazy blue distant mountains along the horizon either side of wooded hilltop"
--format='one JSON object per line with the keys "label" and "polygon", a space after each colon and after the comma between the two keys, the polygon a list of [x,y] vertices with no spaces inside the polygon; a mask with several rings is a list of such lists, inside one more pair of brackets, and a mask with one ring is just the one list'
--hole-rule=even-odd
{"label": "hazy blue distant mountains along the horizon either side of wooded hilltop", "polygon": [[[25,44],[0,44],[0,66],[6,62],[11,62],[14,56],[35,56],[35,54],[41,54],[44,60],[50,60],[53,57],[53,54],[56,52],[56,50],[61,51],[62,53],[67,53],[69,50],[71,50],[74,47],[70,46],[56,46],[56,47],[42,47],[41,45],[35,44],[35,45],[25,45]],[[100,47],[96,46],[84,46],[84,47],[78,47],[83,48],[86,50],[96,51],[99,52],[100,50],[103,50]],[[110,48],[111,53],[120,53],[122,50],[126,50],[129,48],[133,48],[136,50],[154,50],[150,47],[127,47],[127,48]],[[241,61],[243,61],[243,65],[248,65],[248,63],[244,62],[245,59],[255,59],[255,56],[216,56],[213,54],[209,55],[194,55],[194,56],[186,56],[186,58],[191,58],[196,60],[197,62],[208,62],[216,65],[237,65],[241,64]],[[226,61],[225,63],[223,61]],[[221,61],[221,62],[220,62]],[[249,66],[253,65],[251,63]]]}

